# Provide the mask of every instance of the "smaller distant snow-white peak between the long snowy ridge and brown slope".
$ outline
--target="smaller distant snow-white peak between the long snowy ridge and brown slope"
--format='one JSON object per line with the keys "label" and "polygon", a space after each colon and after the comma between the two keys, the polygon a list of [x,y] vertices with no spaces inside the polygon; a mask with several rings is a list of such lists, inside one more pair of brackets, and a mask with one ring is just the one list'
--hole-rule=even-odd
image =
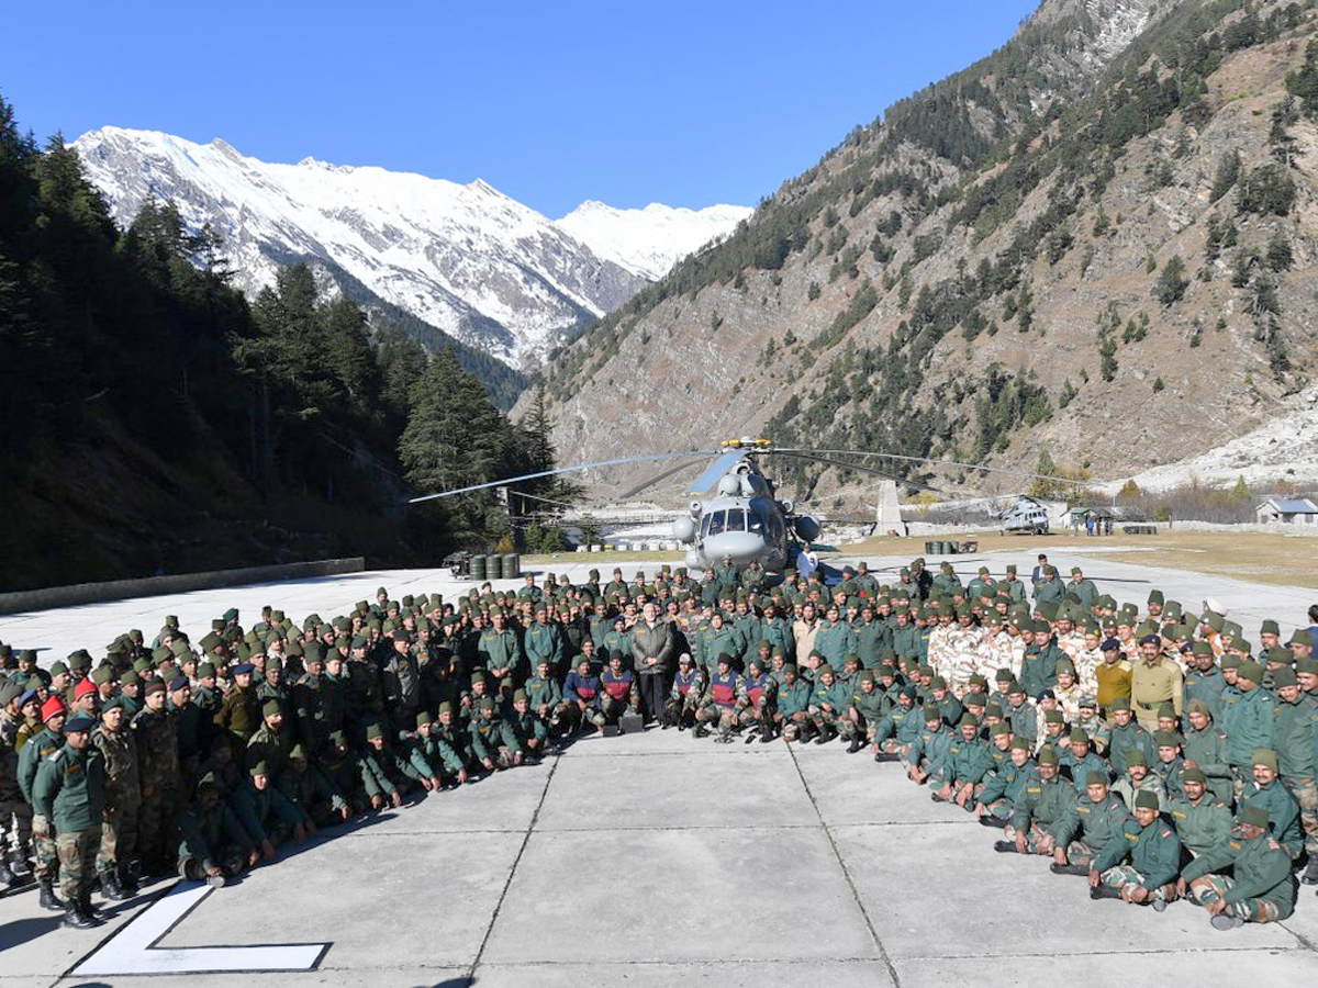
{"label": "smaller distant snow-white peak between the long snowy ridge and brown slope", "polygon": [[616,209],[593,199],[558,221],[559,229],[642,278],[659,281],[677,261],[730,233],[754,209],[710,206],[677,209],[650,203],[645,209]]}

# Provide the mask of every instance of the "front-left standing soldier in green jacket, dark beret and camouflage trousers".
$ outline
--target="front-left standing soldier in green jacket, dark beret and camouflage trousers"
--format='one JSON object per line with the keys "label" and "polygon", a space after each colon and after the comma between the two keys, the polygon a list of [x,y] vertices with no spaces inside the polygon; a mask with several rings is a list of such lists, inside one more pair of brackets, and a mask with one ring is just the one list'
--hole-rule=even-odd
{"label": "front-left standing soldier in green jacket, dark beret and camouflage trousers", "polygon": [[91,909],[91,887],[105,810],[105,765],[91,743],[91,727],[87,717],[69,718],[63,747],[42,759],[32,786],[33,808],[55,830],[65,926],[79,930],[99,925]]}

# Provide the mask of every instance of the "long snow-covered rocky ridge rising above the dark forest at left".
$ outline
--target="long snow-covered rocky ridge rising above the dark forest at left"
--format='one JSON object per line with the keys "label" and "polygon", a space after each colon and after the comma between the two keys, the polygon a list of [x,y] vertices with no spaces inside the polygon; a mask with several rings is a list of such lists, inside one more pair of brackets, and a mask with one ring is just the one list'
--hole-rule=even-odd
{"label": "long snow-covered rocky ridge rising above the dark forest at left", "polygon": [[[244,290],[272,285],[281,263],[320,261],[513,366],[534,365],[565,331],[663,274],[656,258],[676,260],[735,224],[729,217],[720,228],[709,211],[671,211],[676,219],[638,234],[616,220],[602,224],[608,234],[596,252],[478,179],[464,186],[312,158],[273,165],[220,140],[200,145],[112,126],[74,148],[117,223],[130,223],[149,199],[173,200],[190,227],[210,223],[220,234]],[[659,237],[643,269],[617,260],[645,256],[643,242]]]}

